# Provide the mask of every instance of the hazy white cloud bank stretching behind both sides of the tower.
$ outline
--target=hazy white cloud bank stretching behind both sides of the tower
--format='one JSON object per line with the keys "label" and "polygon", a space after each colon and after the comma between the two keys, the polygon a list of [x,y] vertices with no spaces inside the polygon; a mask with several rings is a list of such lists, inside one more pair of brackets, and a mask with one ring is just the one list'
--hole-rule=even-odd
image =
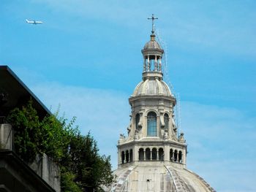
{"label": "hazy white cloud bank stretching behind both sides of the tower", "polygon": [[[56,83],[32,87],[39,99],[53,110],[61,104],[68,118],[78,117],[83,134],[91,131],[100,153],[111,155],[116,168],[119,133],[129,123],[128,96],[118,91],[64,86]],[[188,143],[188,169],[217,191],[254,191],[255,118],[239,110],[184,101],[182,131]]]}

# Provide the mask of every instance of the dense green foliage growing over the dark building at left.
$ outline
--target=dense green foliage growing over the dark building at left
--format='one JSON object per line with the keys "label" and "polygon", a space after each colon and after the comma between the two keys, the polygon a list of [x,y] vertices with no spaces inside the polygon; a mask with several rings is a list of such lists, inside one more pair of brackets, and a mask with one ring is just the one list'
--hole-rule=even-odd
{"label": "dense green foliage growing over the dark building at left", "polygon": [[30,100],[7,117],[14,128],[15,152],[26,162],[47,154],[61,169],[61,191],[103,191],[113,182],[110,156],[99,155],[94,137],[80,134],[75,118],[47,115],[39,120]]}

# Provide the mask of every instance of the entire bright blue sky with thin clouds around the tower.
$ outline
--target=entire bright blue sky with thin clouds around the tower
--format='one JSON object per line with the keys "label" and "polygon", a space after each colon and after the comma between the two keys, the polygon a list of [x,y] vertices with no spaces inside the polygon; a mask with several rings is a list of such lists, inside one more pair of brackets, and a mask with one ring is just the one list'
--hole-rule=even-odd
{"label": "entire bright blue sky with thin clouds around the tower", "polygon": [[236,0],[1,0],[0,64],[47,107],[76,116],[116,168],[154,13],[181,98],[188,169],[217,191],[256,191],[255,8]]}

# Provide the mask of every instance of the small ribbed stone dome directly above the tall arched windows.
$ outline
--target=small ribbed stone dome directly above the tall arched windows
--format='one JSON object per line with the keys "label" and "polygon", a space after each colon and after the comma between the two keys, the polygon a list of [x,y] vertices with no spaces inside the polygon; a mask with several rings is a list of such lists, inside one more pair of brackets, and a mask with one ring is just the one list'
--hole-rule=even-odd
{"label": "small ribbed stone dome directly above the tall arched windows", "polygon": [[170,88],[168,85],[158,79],[154,80],[143,80],[135,88],[135,91],[132,93],[132,96],[171,96]]}

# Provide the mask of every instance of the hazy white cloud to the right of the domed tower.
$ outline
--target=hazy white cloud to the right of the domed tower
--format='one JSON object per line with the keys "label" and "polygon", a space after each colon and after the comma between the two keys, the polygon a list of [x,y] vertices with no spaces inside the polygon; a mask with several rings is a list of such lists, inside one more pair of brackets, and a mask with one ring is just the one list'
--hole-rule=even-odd
{"label": "hazy white cloud to the right of the domed tower", "polygon": [[231,108],[181,103],[188,168],[217,191],[255,191],[256,118]]}

